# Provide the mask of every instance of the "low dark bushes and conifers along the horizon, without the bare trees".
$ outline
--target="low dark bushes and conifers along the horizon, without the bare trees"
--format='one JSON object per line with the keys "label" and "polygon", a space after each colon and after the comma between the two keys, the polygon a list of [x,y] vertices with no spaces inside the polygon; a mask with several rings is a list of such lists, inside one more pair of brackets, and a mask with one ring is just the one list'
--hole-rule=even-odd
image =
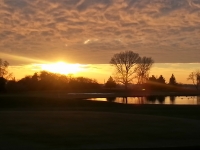
{"label": "low dark bushes and conifers along the horizon, without the bare trees", "polygon": [[[110,76],[104,85],[99,84],[95,79],[87,77],[74,77],[73,75],[62,75],[41,71],[33,75],[25,76],[22,79],[6,80],[0,77],[1,92],[21,92],[21,91],[44,91],[44,90],[67,90],[67,91],[112,91],[119,92],[115,89],[123,91],[124,88],[115,82]],[[104,90],[102,90],[104,89]],[[156,78],[154,75],[149,77],[146,83],[137,84],[136,88],[129,86],[129,91],[177,91],[182,90],[182,86],[176,83],[176,79],[172,74],[169,83],[165,82],[165,78],[160,75]]]}

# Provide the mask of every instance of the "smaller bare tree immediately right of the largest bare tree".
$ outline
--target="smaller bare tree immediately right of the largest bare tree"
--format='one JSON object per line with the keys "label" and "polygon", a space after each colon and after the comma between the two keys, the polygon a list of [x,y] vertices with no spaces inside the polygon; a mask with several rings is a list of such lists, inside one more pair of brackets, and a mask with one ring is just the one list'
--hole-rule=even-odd
{"label": "smaller bare tree immediately right of the largest bare tree", "polygon": [[151,57],[142,57],[139,59],[135,68],[135,77],[138,84],[143,84],[147,81],[153,63],[154,61]]}

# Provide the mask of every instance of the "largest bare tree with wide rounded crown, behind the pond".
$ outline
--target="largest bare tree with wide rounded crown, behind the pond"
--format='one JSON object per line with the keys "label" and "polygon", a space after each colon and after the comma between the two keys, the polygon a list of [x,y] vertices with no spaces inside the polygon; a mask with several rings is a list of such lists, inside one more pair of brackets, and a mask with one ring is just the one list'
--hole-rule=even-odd
{"label": "largest bare tree with wide rounded crown, behind the pond", "polygon": [[128,83],[134,79],[135,65],[138,63],[140,56],[132,51],[125,51],[114,54],[110,64],[115,67],[115,80],[122,83],[127,89]]}

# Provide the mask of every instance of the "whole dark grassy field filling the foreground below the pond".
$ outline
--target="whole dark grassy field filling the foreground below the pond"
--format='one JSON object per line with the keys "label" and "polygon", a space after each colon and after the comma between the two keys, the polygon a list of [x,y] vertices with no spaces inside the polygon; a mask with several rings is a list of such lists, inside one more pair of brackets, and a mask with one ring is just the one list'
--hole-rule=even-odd
{"label": "whole dark grassy field filling the foreground below the pond", "polygon": [[200,106],[47,95],[0,95],[2,150],[200,147]]}

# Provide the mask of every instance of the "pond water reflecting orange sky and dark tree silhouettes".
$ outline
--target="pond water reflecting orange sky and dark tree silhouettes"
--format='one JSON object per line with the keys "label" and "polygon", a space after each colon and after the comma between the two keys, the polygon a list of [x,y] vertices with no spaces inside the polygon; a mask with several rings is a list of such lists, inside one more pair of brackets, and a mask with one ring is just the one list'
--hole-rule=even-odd
{"label": "pond water reflecting orange sky and dark tree silhouettes", "polygon": [[88,100],[109,101],[125,104],[200,105],[200,96],[108,97],[89,98]]}

